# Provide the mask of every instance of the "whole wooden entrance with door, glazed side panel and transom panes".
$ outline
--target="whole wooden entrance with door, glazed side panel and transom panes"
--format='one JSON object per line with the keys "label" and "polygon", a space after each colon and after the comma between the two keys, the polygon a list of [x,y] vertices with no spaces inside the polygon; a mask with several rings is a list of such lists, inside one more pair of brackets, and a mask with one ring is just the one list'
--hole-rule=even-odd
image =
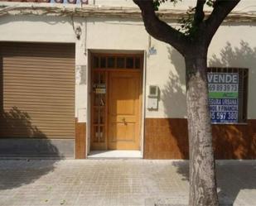
{"label": "whole wooden entrance with door, glazed side panel and transom panes", "polygon": [[143,56],[93,54],[91,62],[91,151],[139,151]]}

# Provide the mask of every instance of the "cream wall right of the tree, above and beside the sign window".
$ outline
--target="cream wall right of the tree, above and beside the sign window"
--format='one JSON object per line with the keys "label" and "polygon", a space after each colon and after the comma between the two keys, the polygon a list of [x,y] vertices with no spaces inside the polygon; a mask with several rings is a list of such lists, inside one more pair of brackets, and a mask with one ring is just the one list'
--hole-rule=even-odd
{"label": "cream wall right of the tree, above and beside the sign window", "polygon": [[[220,26],[210,44],[210,66],[249,69],[248,118],[256,118],[256,23]],[[229,45],[230,44],[230,45]]]}

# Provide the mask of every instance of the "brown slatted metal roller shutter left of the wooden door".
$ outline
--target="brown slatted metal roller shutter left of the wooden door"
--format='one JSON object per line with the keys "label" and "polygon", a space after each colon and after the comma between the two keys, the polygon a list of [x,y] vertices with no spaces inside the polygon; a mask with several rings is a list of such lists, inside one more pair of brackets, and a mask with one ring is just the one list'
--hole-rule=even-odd
{"label": "brown slatted metal roller shutter left of the wooden door", "polygon": [[75,138],[75,45],[0,46],[0,137]]}

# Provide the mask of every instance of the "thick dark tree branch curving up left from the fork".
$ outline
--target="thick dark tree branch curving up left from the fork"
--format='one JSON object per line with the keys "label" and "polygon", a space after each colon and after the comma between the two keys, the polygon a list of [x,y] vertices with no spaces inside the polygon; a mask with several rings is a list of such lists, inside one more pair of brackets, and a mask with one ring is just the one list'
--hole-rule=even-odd
{"label": "thick dark tree branch curving up left from the fork", "polygon": [[180,31],[162,22],[156,15],[153,0],[133,0],[142,11],[142,19],[147,32],[159,41],[170,44],[182,55],[188,39]]}

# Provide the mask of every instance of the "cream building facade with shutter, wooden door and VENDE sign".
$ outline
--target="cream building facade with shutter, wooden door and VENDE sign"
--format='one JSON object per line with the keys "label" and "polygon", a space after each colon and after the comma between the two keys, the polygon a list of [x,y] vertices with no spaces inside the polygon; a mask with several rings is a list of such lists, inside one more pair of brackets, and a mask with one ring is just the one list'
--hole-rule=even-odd
{"label": "cream building facade with shutter, wooden door and VENDE sign", "polygon": [[[191,5],[159,15],[178,27]],[[217,159],[256,157],[254,6],[242,1],[209,48]],[[0,16],[0,156],[188,158],[184,59],[132,1],[1,2]]]}

